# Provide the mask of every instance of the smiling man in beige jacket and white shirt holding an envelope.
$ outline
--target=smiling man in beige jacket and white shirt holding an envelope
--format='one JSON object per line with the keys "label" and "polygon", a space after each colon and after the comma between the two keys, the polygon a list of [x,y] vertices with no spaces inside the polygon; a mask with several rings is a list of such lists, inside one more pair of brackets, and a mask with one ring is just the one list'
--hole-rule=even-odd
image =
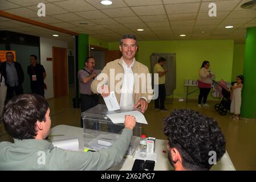
{"label": "smiling man in beige jacket and white shirt holding an envelope", "polygon": [[[121,59],[109,62],[101,71],[99,77],[91,84],[92,92],[100,93],[101,96],[107,97],[111,91],[115,92],[117,101],[121,107],[141,107],[144,113],[151,101],[153,90],[151,88],[151,78],[148,79],[148,67],[139,63],[135,59],[137,52],[137,39],[134,35],[124,35],[120,40]],[[113,73],[113,74],[112,74]],[[121,73],[120,79],[116,79]],[[122,75],[123,73],[123,75]],[[102,75],[107,75],[107,80],[99,80]],[[114,75],[115,77],[111,77]],[[144,75],[146,80],[138,78],[138,75]],[[111,83],[114,86],[111,86]],[[116,88],[117,87],[117,88]],[[139,90],[139,92],[138,92]]]}

